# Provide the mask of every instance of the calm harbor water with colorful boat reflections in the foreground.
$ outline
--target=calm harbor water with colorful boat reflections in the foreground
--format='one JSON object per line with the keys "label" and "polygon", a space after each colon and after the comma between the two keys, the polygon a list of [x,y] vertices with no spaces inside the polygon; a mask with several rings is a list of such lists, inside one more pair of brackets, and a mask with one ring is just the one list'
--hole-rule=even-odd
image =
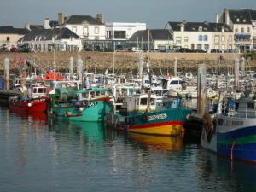
{"label": "calm harbor water with colorful boat reflections in the foreground", "polygon": [[0,191],[256,191],[256,167],[183,138],[0,108]]}

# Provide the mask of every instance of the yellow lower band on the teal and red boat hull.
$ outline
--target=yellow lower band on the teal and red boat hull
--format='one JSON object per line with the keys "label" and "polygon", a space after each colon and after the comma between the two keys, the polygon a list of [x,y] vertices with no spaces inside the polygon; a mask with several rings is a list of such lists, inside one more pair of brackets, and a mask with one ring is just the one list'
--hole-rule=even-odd
{"label": "yellow lower band on the teal and red boat hull", "polygon": [[177,136],[183,134],[183,125],[162,125],[148,128],[128,129],[127,131],[162,136]]}

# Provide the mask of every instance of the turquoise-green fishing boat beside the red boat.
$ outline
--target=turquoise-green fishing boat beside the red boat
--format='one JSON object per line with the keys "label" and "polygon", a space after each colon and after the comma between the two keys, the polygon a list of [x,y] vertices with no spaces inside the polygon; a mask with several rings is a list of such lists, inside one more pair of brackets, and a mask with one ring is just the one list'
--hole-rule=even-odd
{"label": "turquoise-green fishing boat beside the red boat", "polygon": [[[60,90],[62,93],[65,91]],[[71,91],[67,91],[71,92]],[[59,98],[63,96],[57,96]],[[110,110],[109,100],[111,96],[105,88],[91,88],[76,90],[71,100],[56,101],[52,97],[52,114],[56,119],[65,121],[102,122],[105,114]]]}

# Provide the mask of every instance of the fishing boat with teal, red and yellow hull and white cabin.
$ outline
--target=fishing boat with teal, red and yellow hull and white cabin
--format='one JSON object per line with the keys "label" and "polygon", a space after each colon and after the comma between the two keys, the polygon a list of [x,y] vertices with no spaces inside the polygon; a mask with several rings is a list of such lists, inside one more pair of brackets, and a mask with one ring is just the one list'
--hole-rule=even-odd
{"label": "fishing boat with teal, red and yellow hull and white cabin", "polygon": [[138,94],[126,97],[125,103],[115,103],[106,122],[123,131],[177,136],[183,134],[183,125],[190,113],[190,109],[182,107],[179,98],[161,102],[159,96]]}

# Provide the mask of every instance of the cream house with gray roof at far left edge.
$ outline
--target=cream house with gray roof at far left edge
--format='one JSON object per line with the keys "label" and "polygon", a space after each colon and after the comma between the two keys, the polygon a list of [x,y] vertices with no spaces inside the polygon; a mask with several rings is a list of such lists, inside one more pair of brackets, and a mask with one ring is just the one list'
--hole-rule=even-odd
{"label": "cream house with gray roof at far left edge", "polygon": [[17,47],[17,42],[29,31],[25,28],[14,28],[13,26],[0,26],[0,47],[10,49]]}

